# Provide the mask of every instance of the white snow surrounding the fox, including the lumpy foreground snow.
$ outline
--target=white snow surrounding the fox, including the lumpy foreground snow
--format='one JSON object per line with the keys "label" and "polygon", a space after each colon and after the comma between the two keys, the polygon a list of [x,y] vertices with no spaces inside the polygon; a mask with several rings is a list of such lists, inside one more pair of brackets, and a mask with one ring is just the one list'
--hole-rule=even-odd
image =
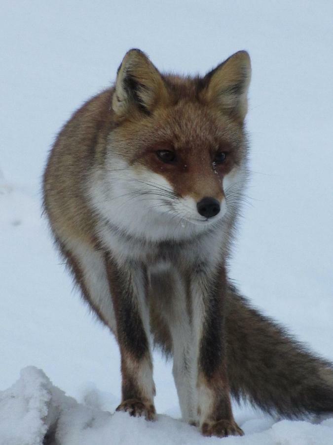
{"label": "white snow surrounding the fox, including the lumpy foreground snow", "polygon": [[171,364],[158,354],[158,420],[114,414],[117,346],[73,291],[40,205],[57,132],[111,85],[129,48],[184,74],[247,49],[253,174],[231,277],[333,360],[332,19],[325,0],[1,1],[0,445],[42,444],[55,419],[60,445],[333,444],[333,418],[292,422],[237,405],[246,436],[202,438],[175,420]]}

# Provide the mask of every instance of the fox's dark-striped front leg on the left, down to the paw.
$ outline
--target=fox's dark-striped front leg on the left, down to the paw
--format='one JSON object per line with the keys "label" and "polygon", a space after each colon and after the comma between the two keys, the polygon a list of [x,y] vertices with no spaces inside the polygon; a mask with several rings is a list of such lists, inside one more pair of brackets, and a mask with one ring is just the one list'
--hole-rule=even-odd
{"label": "fox's dark-striped front leg on the left, down to the paw", "polygon": [[118,265],[106,258],[121,355],[122,401],[117,411],[155,417],[152,360],[149,346],[147,274],[139,264]]}

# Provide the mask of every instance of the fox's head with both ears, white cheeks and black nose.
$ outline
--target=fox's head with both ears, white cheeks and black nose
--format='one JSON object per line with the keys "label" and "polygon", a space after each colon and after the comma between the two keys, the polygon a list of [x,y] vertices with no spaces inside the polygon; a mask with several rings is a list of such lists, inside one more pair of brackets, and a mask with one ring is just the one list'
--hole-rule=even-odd
{"label": "fox's head with both ears, white cheeks and black nose", "polygon": [[105,215],[130,232],[218,225],[246,178],[250,58],[239,51],[203,78],[161,74],[138,49],[118,69],[103,193]]}

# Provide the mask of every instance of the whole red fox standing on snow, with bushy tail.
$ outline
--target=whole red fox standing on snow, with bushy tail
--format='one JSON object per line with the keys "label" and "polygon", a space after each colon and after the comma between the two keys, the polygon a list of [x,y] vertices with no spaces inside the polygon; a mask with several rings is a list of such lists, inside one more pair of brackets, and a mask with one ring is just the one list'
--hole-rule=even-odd
{"label": "whole red fox standing on snow, with bushy tail", "polygon": [[228,278],[250,78],[245,50],[186,77],[131,49],[64,125],[43,176],[55,244],[119,346],[116,410],[156,418],[156,347],[173,359],[182,420],[204,436],[243,435],[231,398],[286,418],[333,411],[332,363]]}

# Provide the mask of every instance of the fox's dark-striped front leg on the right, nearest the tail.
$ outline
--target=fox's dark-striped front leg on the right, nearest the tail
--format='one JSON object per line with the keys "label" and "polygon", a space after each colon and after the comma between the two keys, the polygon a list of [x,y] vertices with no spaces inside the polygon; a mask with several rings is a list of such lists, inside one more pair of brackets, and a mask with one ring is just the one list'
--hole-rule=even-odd
{"label": "fox's dark-striped front leg on the right, nearest the tail", "polygon": [[242,436],[231,410],[226,372],[224,268],[192,279],[193,322],[198,327],[198,415],[204,436]]}

